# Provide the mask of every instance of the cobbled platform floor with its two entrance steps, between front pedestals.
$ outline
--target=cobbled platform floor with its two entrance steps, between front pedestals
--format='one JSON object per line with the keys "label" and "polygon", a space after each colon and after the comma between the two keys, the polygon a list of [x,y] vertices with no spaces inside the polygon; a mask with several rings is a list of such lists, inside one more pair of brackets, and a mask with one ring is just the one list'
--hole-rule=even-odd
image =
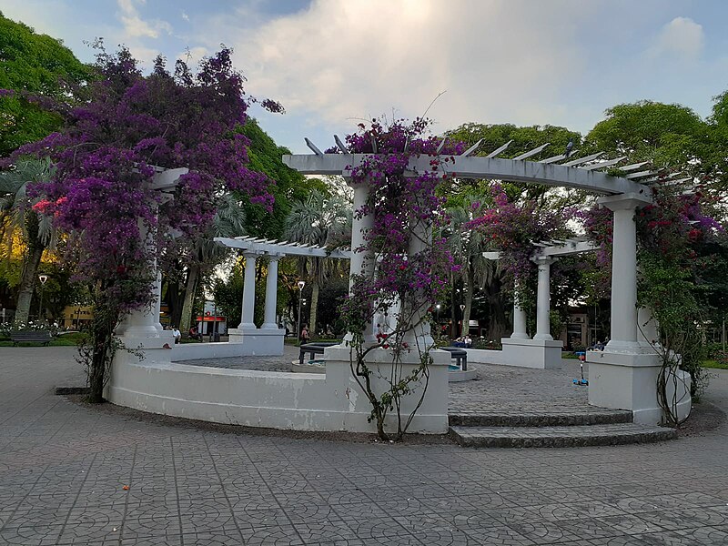
{"label": "cobbled platform floor with its two entrance steps, between front pedestals", "polygon": [[[634,423],[632,410],[589,403],[574,385],[578,360],[559,369],[474,365],[476,380],[450,385],[450,436],[462,446],[537,448],[672,440],[672,429]],[[584,372],[589,377],[588,365]]]}

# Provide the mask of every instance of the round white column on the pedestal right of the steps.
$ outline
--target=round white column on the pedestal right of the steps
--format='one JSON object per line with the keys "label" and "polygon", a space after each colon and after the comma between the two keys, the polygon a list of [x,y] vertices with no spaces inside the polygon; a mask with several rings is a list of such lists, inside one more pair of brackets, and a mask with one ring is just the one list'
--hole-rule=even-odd
{"label": "round white column on the pedestal right of the steps", "polygon": [[608,350],[630,352],[637,342],[637,226],[634,209],[642,203],[630,197],[602,197],[614,213],[612,230],[612,333]]}

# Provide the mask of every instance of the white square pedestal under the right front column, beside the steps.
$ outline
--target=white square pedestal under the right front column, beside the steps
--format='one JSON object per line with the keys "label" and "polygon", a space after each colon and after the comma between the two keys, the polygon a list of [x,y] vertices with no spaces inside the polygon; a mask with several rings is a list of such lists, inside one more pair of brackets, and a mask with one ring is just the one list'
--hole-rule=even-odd
{"label": "white square pedestal under the right front column, beside the steps", "polygon": [[[587,351],[589,363],[589,403],[602,408],[632,410],[634,422],[656,425],[663,421],[657,401],[657,377],[662,368],[660,357],[653,351],[619,353]],[[685,372],[680,372],[684,374]],[[679,387],[678,415],[690,413],[690,379],[686,391]],[[670,396],[669,392],[669,396]]]}

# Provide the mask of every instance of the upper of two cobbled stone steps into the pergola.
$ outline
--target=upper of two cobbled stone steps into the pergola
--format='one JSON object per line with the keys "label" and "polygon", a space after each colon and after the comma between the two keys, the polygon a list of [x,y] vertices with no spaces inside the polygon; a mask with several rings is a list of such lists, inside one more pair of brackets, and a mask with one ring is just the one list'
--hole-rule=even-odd
{"label": "upper of two cobbled stone steps into the pergola", "polygon": [[450,427],[573,427],[631,423],[632,411],[602,408],[452,410]]}

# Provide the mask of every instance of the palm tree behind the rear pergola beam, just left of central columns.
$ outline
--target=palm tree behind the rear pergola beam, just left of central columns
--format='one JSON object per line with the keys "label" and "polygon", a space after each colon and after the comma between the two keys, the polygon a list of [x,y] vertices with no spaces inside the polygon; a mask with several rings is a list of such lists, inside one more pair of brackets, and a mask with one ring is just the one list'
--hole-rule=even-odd
{"label": "palm tree behind the rear pergola beam, just left of central columns", "polygon": [[[289,241],[316,247],[334,247],[346,238],[351,240],[351,205],[340,196],[328,197],[319,190],[313,190],[306,201],[296,203],[286,219],[284,238]],[[319,257],[302,257],[298,267],[302,277],[311,284],[311,313],[309,334],[316,330],[319,288],[329,274],[340,268],[341,260]],[[300,329],[300,325],[297,325]]]}

